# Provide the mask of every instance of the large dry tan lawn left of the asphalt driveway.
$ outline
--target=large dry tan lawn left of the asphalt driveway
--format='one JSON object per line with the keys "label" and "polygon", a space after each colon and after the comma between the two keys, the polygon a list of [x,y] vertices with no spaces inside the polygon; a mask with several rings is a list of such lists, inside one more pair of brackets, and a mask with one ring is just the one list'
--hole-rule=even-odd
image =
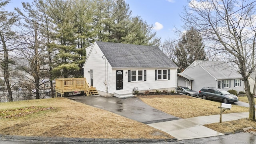
{"label": "large dry tan lawn left of the asphalt driveway", "polygon": [[146,124],[67,98],[0,103],[2,111],[32,110],[32,107],[51,109],[0,118],[0,134],[69,138],[173,138]]}

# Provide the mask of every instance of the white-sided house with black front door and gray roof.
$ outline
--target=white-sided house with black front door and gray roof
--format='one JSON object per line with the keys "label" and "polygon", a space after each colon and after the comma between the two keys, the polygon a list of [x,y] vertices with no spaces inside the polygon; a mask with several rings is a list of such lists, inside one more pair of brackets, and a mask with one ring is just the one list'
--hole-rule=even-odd
{"label": "white-sided house with black front door and gray roof", "polygon": [[84,77],[101,96],[133,88],[175,91],[177,66],[156,46],[94,42],[86,53]]}

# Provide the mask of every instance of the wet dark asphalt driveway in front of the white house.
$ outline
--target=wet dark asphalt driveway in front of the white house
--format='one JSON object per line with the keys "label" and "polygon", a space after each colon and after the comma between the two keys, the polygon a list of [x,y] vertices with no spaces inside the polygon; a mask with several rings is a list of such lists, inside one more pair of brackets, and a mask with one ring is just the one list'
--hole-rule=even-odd
{"label": "wet dark asphalt driveway in front of the white house", "polygon": [[180,119],[178,117],[157,110],[145,104],[136,97],[117,98],[114,96],[70,96],[68,98],[76,102],[81,102],[96,108],[108,110],[115,114],[136,120],[138,122],[142,122],[144,124]]}

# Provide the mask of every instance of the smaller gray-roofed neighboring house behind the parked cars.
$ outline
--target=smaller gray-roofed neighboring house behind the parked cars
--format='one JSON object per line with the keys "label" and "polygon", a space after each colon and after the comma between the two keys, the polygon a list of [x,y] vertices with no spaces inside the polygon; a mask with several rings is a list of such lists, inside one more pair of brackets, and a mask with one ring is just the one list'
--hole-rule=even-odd
{"label": "smaller gray-roofed neighboring house behind the parked cars", "polygon": [[[242,75],[227,62],[196,60],[182,73],[194,79],[190,84],[195,91],[203,87],[214,87],[244,92]],[[178,77],[178,83],[180,81],[184,81],[184,78]]]}

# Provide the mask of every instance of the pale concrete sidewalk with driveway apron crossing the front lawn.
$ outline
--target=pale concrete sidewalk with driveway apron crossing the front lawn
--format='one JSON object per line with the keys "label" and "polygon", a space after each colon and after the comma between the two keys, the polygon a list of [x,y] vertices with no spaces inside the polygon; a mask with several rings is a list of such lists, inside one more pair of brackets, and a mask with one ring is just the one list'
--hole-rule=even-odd
{"label": "pale concrete sidewalk with driveway apron crossing the front lawn", "polygon": [[[248,115],[249,112],[222,114],[222,122],[247,118]],[[220,122],[220,115],[199,116],[167,122],[158,122],[148,125],[152,126],[153,128],[157,128],[158,130],[162,130],[174,136],[178,140],[187,140],[224,135],[220,132],[216,132],[210,128],[202,126],[204,124],[211,124],[216,122]]]}

